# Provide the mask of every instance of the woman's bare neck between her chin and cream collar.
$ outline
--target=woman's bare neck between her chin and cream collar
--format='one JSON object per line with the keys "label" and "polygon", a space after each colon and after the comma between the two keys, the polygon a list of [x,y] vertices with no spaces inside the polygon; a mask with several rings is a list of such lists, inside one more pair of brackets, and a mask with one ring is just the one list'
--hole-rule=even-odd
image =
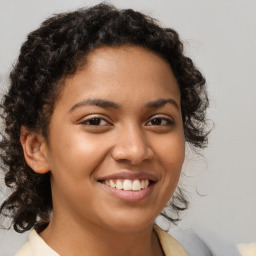
{"label": "woman's bare neck between her chin and cream collar", "polygon": [[73,218],[60,221],[53,216],[40,236],[62,256],[163,255],[153,223],[142,230],[120,232],[91,222],[78,223]]}

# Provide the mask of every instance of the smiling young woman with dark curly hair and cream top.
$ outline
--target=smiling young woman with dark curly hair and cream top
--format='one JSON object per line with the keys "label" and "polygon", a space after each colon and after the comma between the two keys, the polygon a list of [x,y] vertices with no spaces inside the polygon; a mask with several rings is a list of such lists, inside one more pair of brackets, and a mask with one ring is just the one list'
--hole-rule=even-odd
{"label": "smiling young woman with dark curly hair and cream top", "polygon": [[154,226],[188,206],[185,142],[207,142],[205,80],[174,30],[105,4],[62,13],[10,79],[1,213],[33,229],[17,255],[187,255]]}

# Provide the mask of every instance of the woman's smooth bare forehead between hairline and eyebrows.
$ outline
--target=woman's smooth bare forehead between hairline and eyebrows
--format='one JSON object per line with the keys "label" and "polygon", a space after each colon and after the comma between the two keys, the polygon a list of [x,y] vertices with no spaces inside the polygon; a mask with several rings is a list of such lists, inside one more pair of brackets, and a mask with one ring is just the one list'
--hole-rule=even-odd
{"label": "woman's smooth bare forehead between hairline and eyebrows", "polygon": [[179,102],[179,87],[170,64],[150,50],[128,45],[90,52],[84,67],[66,79],[62,96],[125,102],[131,98],[153,101],[166,94]]}

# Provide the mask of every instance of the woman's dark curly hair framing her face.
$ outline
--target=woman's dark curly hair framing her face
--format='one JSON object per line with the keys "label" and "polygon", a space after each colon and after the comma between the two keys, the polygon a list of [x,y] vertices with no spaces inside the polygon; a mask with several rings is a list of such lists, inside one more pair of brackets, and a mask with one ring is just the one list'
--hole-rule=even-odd
{"label": "woman's dark curly hair framing her face", "polygon": [[[174,30],[161,27],[140,12],[107,4],[54,15],[30,33],[22,45],[1,105],[2,169],[11,193],[0,213],[12,218],[15,231],[32,227],[43,230],[52,212],[50,173],[35,173],[27,165],[20,143],[21,127],[47,139],[54,103],[65,78],[86,65],[85,57],[93,49],[127,44],[146,48],[170,64],[181,93],[185,140],[194,148],[206,146],[205,79],[184,56],[183,44]],[[176,213],[188,207],[180,188],[168,206]],[[170,214],[166,217],[175,220]]]}

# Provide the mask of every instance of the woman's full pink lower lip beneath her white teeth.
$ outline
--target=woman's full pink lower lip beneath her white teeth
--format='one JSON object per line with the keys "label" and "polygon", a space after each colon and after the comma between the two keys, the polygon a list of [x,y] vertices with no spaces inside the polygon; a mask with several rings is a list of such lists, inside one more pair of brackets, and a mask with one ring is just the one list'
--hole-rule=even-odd
{"label": "woman's full pink lower lip beneath her white teeth", "polygon": [[130,191],[130,190],[119,190],[116,188],[111,188],[109,186],[106,186],[103,183],[100,183],[100,184],[102,184],[103,188],[108,192],[110,192],[113,196],[125,202],[138,202],[145,199],[151,193],[155,185],[155,183],[152,183],[145,189],[142,189],[139,191]]}

